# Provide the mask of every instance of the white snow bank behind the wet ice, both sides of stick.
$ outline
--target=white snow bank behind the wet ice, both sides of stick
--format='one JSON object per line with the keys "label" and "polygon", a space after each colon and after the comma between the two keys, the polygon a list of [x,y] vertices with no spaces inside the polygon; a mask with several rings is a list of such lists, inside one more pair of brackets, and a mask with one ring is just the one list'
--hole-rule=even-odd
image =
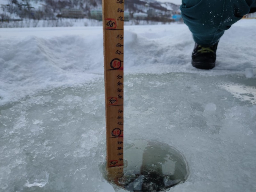
{"label": "white snow bank behind the wet ice, both sides of stick", "polygon": [[[191,66],[194,42],[184,24],[125,26],[125,73],[253,77],[254,26],[255,20],[242,20],[226,31],[217,50],[217,66],[210,71]],[[244,30],[246,35],[241,35]],[[0,104],[38,90],[81,84],[103,75],[101,27],[6,28],[2,29],[0,40],[4,47],[0,52]],[[245,72],[248,68],[250,72]]]}

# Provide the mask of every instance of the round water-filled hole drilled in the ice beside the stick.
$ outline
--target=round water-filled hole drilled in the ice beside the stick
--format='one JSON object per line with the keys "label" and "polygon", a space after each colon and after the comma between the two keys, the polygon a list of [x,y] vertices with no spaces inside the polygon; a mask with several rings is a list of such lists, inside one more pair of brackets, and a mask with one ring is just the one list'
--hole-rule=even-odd
{"label": "round water-filled hole drilled in the ice beside the stick", "polygon": [[125,141],[124,159],[124,176],[116,184],[127,191],[166,191],[188,178],[185,157],[165,143]]}

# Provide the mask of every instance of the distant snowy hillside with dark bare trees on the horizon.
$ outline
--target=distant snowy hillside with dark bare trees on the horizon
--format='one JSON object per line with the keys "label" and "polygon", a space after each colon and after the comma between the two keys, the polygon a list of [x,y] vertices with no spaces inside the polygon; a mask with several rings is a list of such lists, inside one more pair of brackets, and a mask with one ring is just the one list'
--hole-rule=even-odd
{"label": "distant snowy hillside with dark bare trees on the horizon", "polygon": [[[0,16],[2,19],[56,19],[62,9],[79,9],[89,17],[91,10],[101,10],[101,3],[101,0],[1,0]],[[152,16],[170,17],[170,12],[179,11],[179,5],[155,0],[127,0],[125,10],[131,15],[151,10]]]}

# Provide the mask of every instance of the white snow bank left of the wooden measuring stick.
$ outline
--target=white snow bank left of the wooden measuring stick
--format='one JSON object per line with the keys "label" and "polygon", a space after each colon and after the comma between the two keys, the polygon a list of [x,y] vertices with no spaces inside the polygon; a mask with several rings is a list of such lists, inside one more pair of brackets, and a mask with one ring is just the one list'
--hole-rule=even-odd
{"label": "white snow bank left of the wooden measuring stick", "polygon": [[[61,30],[63,28],[56,32]],[[39,36],[32,35],[32,30],[31,35],[22,39],[1,38],[2,46],[5,47],[0,56],[1,103],[8,101],[9,96],[11,100],[17,100],[36,90],[71,86],[97,77],[88,70],[102,67],[101,30],[97,28],[97,32],[94,35],[87,34],[87,38],[81,34],[84,28],[77,30],[79,35],[73,36],[67,31],[66,35],[60,33],[59,37],[52,38],[52,29],[46,28]],[[48,35],[45,34],[47,32]],[[49,35],[51,37],[47,37]],[[99,40],[95,41],[95,38]]]}

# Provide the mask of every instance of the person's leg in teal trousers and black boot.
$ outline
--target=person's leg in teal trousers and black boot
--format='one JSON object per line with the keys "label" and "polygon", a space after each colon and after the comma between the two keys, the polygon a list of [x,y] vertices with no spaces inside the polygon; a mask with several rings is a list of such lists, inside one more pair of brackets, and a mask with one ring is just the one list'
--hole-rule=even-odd
{"label": "person's leg in teal trousers and black boot", "polygon": [[196,42],[192,65],[201,69],[215,67],[216,50],[224,31],[255,8],[256,0],[182,0],[181,16]]}

